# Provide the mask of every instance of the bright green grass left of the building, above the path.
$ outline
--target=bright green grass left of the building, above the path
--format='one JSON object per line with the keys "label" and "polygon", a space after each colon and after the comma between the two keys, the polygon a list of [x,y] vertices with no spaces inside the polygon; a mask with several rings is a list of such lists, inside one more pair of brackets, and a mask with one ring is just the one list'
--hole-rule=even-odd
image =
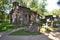
{"label": "bright green grass left of the building, above the path", "polygon": [[13,29],[14,26],[12,26],[8,21],[4,21],[2,23],[0,23],[0,32],[1,31],[6,31],[9,29]]}

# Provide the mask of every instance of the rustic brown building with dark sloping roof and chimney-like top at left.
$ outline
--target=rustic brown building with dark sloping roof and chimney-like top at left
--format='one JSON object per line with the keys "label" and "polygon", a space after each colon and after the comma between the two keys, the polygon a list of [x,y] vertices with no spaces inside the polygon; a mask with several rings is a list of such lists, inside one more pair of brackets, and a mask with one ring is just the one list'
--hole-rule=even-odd
{"label": "rustic brown building with dark sloping roof and chimney-like top at left", "polygon": [[10,12],[10,22],[13,25],[26,25],[36,23],[40,19],[40,15],[29,8],[19,6],[19,3],[14,2]]}

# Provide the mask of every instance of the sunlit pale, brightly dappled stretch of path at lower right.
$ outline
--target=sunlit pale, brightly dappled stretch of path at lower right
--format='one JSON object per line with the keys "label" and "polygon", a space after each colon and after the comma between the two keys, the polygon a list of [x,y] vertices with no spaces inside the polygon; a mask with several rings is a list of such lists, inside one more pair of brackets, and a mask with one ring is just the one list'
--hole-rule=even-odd
{"label": "sunlit pale, brightly dappled stretch of path at lower right", "polygon": [[48,37],[52,40],[60,40],[60,25],[57,25],[57,27],[55,31],[48,34]]}

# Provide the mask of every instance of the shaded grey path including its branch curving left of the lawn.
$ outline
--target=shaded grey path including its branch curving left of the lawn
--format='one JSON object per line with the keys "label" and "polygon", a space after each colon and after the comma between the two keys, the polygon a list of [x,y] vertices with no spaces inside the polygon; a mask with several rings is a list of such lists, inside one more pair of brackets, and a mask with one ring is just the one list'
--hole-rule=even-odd
{"label": "shaded grey path including its branch curving left of the lawn", "polygon": [[3,33],[2,37],[0,37],[0,40],[50,40],[48,36],[41,34],[41,35],[29,35],[29,36],[11,36],[9,35],[12,32],[18,31],[20,29],[25,28],[18,28],[14,30],[9,30]]}

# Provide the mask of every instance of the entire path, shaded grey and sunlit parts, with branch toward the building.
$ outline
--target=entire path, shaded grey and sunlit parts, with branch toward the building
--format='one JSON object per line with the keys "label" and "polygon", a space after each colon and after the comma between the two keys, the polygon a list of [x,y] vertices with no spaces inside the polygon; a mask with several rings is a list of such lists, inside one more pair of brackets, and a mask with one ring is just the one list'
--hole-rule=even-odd
{"label": "entire path, shaded grey and sunlit parts, with branch toward the building", "polygon": [[26,28],[18,28],[14,30],[8,30],[3,33],[2,37],[0,37],[0,40],[60,40],[60,27],[58,27],[54,32],[49,33],[48,35],[25,35],[25,36],[12,36],[9,35],[12,32],[18,31],[20,29],[26,29]]}

